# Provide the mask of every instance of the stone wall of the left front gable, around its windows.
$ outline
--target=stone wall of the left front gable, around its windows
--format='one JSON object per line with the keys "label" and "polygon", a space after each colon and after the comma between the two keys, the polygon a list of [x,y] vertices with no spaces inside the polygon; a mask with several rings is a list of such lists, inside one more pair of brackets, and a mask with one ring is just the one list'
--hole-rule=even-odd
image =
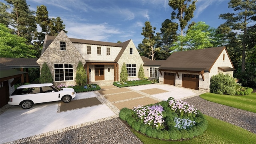
{"label": "stone wall of the left front gable, around its windows", "polygon": [[[60,50],[60,42],[66,42],[66,50]],[[40,56],[37,63],[40,65],[41,70],[44,62],[47,62],[54,84],[76,85],[76,68],[79,61],[82,61],[83,65],[86,63],[74,44],[72,44],[68,36],[62,31]],[[73,64],[73,80],[55,81],[54,64]]]}

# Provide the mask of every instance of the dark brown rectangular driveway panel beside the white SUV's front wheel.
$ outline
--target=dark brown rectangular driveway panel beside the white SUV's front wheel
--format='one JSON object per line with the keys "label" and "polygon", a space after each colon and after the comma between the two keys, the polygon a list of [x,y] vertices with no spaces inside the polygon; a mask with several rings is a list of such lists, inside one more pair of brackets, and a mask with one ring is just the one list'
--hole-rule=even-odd
{"label": "dark brown rectangular driveway panel beside the white SUV's front wheel", "polygon": [[64,103],[60,102],[60,112],[67,111],[67,110],[74,110],[78,108],[85,108],[88,106],[96,106],[102,104],[98,98],[85,98],[80,100],[72,100],[71,102]]}

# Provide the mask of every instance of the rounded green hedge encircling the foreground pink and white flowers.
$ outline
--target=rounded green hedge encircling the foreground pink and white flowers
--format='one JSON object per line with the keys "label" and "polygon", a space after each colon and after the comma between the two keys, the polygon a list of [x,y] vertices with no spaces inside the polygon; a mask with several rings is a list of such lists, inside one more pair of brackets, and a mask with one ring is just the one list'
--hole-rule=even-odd
{"label": "rounded green hedge encircling the foreground pink and white flowers", "polygon": [[[208,122],[200,111],[198,111],[198,114],[195,117],[187,115],[181,117],[170,109],[168,101],[162,101],[157,103],[157,105],[160,104],[164,108],[164,111],[162,111],[163,119],[165,121],[164,129],[156,130],[156,128],[153,128],[152,126],[149,126],[147,124],[140,124],[140,122],[135,119],[135,112],[132,109],[128,108],[122,108],[120,110],[120,119],[126,121],[134,130],[140,131],[142,134],[146,134],[147,136],[152,138],[164,140],[182,140],[187,138],[193,138],[195,136],[200,136],[203,134],[203,132],[207,128]],[[151,105],[152,104],[148,106]],[[178,130],[174,127],[176,125],[176,123],[174,122],[175,117],[189,118],[190,120],[194,120],[196,124],[190,128],[187,128],[186,130]]]}

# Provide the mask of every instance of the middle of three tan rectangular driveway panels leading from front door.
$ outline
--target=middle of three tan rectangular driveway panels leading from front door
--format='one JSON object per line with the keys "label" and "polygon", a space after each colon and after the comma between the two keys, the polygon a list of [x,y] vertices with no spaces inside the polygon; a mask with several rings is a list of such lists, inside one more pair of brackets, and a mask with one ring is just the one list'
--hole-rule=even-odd
{"label": "middle of three tan rectangular driveway panels leading from front door", "polygon": [[106,99],[108,99],[110,102],[116,102],[120,100],[126,100],[130,98],[137,98],[143,96],[142,94],[139,94],[137,92],[126,92],[122,94],[113,94],[113,95],[108,95],[104,96]]}

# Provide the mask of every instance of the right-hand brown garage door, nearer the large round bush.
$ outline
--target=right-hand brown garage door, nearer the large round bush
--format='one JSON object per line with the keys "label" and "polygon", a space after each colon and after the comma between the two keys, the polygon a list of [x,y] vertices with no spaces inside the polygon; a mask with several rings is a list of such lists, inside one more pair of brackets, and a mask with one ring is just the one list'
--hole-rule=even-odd
{"label": "right-hand brown garage door, nearer the large round bush", "polygon": [[199,75],[182,74],[182,87],[198,90]]}

